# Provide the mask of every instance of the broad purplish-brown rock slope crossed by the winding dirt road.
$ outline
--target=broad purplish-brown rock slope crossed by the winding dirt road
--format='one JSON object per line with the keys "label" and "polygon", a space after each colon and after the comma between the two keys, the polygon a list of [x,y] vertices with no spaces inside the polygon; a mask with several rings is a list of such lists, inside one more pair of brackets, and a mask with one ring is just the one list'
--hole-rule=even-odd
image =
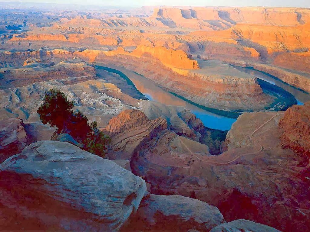
{"label": "broad purplish-brown rock slope crossed by the winding dirt road", "polygon": [[[152,194],[202,200],[218,207],[227,221],[245,218],[282,231],[305,230],[310,226],[308,162],[281,148],[284,131],[278,123],[283,115],[242,114],[228,132],[227,151],[219,156],[194,151],[189,144],[181,150],[182,142],[148,139],[133,153],[131,170],[144,178]],[[174,145],[178,149],[171,149]],[[296,202],[298,210],[283,201]]]}

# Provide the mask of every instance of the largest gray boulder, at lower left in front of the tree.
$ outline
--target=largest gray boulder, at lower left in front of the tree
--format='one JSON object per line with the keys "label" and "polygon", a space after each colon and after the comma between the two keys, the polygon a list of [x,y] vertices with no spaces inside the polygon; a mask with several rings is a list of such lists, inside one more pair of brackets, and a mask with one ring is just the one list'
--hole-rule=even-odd
{"label": "largest gray boulder, at lower left in front of the tree", "polygon": [[[61,214],[57,214],[69,205],[69,213],[53,224],[55,226],[55,223],[59,223],[59,228],[69,231],[118,230],[136,211],[146,191],[142,178],[113,161],[66,142],[39,141],[30,144],[20,154],[4,161],[0,170],[6,173],[5,178],[2,175],[2,181],[8,179],[12,183],[12,178],[15,180],[14,175],[17,174],[27,188],[27,194],[34,192],[34,198],[44,195],[46,197],[41,198],[54,199],[55,203],[49,203],[50,207],[63,203],[64,206],[58,207],[53,217],[60,217]],[[10,175],[13,176],[11,179]],[[10,193],[10,189],[7,193]],[[29,204],[31,202],[35,200]],[[42,199],[39,202],[44,205]],[[10,204],[14,205],[14,202]],[[29,204],[25,203],[23,207],[16,204],[16,207],[27,208],[28,214],[33,208],[40,211],[43,207]],[[81,217],[76,216],[81,213]],[[35,217],[48,221],[47,215],[50,216],[50,213],[43,212],[42,215],[37,213]]]}

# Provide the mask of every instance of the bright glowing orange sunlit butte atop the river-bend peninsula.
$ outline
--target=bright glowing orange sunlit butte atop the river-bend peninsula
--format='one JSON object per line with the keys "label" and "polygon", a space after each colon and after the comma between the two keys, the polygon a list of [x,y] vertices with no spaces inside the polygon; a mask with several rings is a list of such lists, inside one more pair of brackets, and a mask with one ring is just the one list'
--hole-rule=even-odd
{"label": "bright glowing orange sunlit butte atop the river-bend peninsula", "polygon": [[165,47],[148,47],[139,45],[131,53],[126,52],[122,47],[116,50],[104,52],[108,56],[113,55],[130,55],[135,57],[142,57],[144,55],[151,55],[153,58],[158,59],[163,65],[170,68],[180,69],[199,69],[198,62],[190,55],[182,50],[167,49]]}

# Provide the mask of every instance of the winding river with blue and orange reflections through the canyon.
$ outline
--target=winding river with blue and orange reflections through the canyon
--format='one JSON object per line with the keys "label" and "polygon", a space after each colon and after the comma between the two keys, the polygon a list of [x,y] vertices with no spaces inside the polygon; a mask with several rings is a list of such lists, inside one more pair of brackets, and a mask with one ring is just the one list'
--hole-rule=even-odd
{"label": "winding river with blue and orange reflections through the canyon", "polygon": [[[171,93],[167,92],[163,88],[160,88],[157,84],[153,81],[145,78],[138,73],[130,71],[128,69],[122,67],[103,67],[103,66],[96,66],[96,68],[104,69],[109,72],[117,73],[124,79],[127,79],[127,82],[130,80],[135,87],[146,96],[151,101],[157,101],[166,105],[177,105],[177,106],[184,106],[188,110],[190,110],[193,114],[200,118],[203,124],[206,127],[218,130],[229,130],[237,119],[236,118],[229,118],[225,116],[221,116],[218,114],[211,113],[205,109],[201,109],[196,105],[193,105],[187,101],[182,100],[181,98],[172,95]],[[281,80],[273,78],[271,75],[264,74],[263,72],[256,71],[249,68],[243,67],[234,67],[239,71],[243,71],[249,73],[251,75],[256,76],[258,79],[262,79],[270,84],[277,85],[278,87],[290,92],[297,100],[298,104],[303,104],[306,101],[309,101],[309,94],[294,88],[288,84],[283,83]]]}

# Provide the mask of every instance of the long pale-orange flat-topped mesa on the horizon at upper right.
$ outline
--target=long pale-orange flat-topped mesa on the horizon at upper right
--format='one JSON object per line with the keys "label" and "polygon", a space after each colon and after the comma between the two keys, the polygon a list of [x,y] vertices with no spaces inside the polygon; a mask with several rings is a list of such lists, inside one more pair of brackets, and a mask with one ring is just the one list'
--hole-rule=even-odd
{"label": "long pale-orange flat-topped mesa on the horizon at upper right", "polygon": [[[279,26],[297,26],[309,22],[309,15],[303,8],[266,8],[266,7],[191,7],[190,9],[162,7],[155,8],[150,18],[164,21],[170,27],[185,26],[200,28],[207,25],[202,20],[225,22],[226,27],[236,23],[265,24]],[[196,21],[201,20],[199,24]],[[205,25],[204,25],[205,23]],[[215,27],[210,22],[209,28]],[[223,25],[216,25],[221,27]],[[225,28],[223,26],[223,28]]]}

